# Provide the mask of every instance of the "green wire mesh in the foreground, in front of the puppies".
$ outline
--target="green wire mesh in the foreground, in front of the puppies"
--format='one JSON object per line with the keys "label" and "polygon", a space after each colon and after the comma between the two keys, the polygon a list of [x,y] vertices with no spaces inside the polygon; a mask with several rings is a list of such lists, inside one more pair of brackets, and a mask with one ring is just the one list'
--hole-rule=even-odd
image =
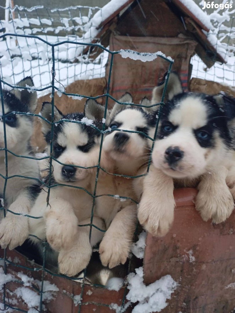
{"label": "green wire mesh in the foreground, in front of the puppies", "polygon": [[[24,112],[15,112],[15,114],[19,114],[19,115],[28,115],[28,116],[37,116],[38,118],[41,118],[45,121],[47,121],[48,123],[50,123],[51,125],[51,136],[50,136],[50,155],[49,156],[45,156],[45,157],[41,157],[41,158],[36,158],[36,157],[27,157],[27,158],[32,158],[32,159],[35,159],[35,160],[42,160],[42,159],[48,159],[49,161],[49,179],[48,179],[48,183],[45,184],[44,181],[42,180],[39,180],[40,184],[42,186],[45,186],[48,188],[48,197],[47,197],[47,205],[49,203],[49,199],[50,199],[50,190],[51,188],[53,187],[56,187],[56,186],[68,186],[68,187],[71,187],[71,188],[81,188],[81,187],[75,187],[75,186],[70,186],[70,185],[63,185],[63,184],[54,184],[52,182],[52,160],[55,160],[57,161],[55,158],[53,158],[52,156],[52,152],[53,152],[53,131],[54,131],[54,126],[55,124],[58,124],[60,122],[63,122],[63,121],[56,121],[56,123],[54,122],[54,95],[55,95],[55,90],[59,90],[59,88],[55,85],[55,75],[56,75],[56,62],[58,61],[57,57],[56,57],[56,54],[57,54],[57,51],[58,49],[60,49],[60,47],[63,47],[63,46],[66,46],[67,45],[70,45],[71,47],[76,47],[75,50],[78,50],[79,48],[84,48],[84,46],[88,46],[88,47],[98,47],[99,49],[102,49],[104,52],[106,52],[107,54],[109,54],[111,57],[110,57],[110,69],[109,69],[109,74],[108,74],[108,85],[107,85],[107,91],[105,94],[101,95],[101,96],[96,96],[96,97],[90,97],[88,95],[80,95],[80,94],[68,94],[64,91],[62,91],[63,94],[67,95],[67,96],[77,96],[77,97],[82,97],[82,98],[88,98],[88,99],[97,99],[97,98],[100,98],[100,97],[104,97],[105,98],[105,112],[104,112],[104,116],[103,118],[105,119],[106,118],[106,113],[107,113],[107,110],[108,110],[108,100],[109,99],[112,99],[112,100],[115,100],[117,101],[119,104],[122,104],[122,105],[129,105],[129,103],[125,103],[125,102],[119,102],[118,100],[114,99],[112,97],[112,95],[110,94],[110,80],[111,80],[111,74],[112,74],[112,67],[113,67],[113,59],[115,57],[116,54],[119,54],[120,51],[110,51],[109,49],[106,49],[104,48],[103,46],[101,46],[100,44],[88,44],[88,43],[84,43],[84,42],[78,42],[78,41],[71,41],[71,40],[63,40],[63,41],[60,41],[60,42],[50,42],[49,40],[47,41],[46,39],[43,39],[39,36],[34,36],[34,35],[28,35],[28,34],[15,34],[15,33],[4,33],[2,36],[0,36],[0,40],[5,38],[5,42],[8,41],[8,38],[13,38],[14,40],[17,40],[18,42],[21,40],[21,39],[24,39],[24,40],[33,40],[34,42],[40,42],[44,45],[46,45],[48,48],[47,48],[47,51],[51,50],[50,54],[51,54],[51,69],[49,71],[50,75],[51,75],[51,84],[50,85],[47,85],[47,86],[42,86],[42,88],[33,88],[33,90],[36,90],[36,91],[43,91],[43,90],[47,90],[47,89],[51,89],[52,90],[52,99],[51,99],[51,105],[52,105],[52,121],[49,122],[47,121],[45,118],[43,118],[41,115],[39,114],[32,114],[32,113],[24,113]],[[72,48],[71,48],[72,49]],[[130,52],[130,51],[126,51],[127,53],[133,53],[133,52]],[[134,54],[139,54],[137,52],[134,52]],[[141,54],[142,57],[149,57],[149,56],[153,56],[153,54]],[[163,55],[159,54],[158,53],[155,53],[154,54],[155,57],[160,57],[162,59],[164,59],[166,62],[168,62],[169,66],[168,66],[168,73],[170,73],[171,71],[171,68],[172,68],[172,65],[173,65],[173,60],[172,59],[168,59],[166,57],[164,57]],[[23,60],[22,60],[22,64],[23,64]],[[48,65],[50,67],[50,64]],[[40,64],[39,64],[39,67],[40,67]],[[3,125],[4,125],[4,143],[5,143],[5,147],[3,149],[0,149],[0,150],[4,150],[5,151],[5,164],[6,164],[6,173],[5,175],[3,173],[0,173],[0,176],[5,180],[5,184],[4,184],[4,191],[3,191],[3,199],[5,198],[5,191],[6,191],[6,186],[7,186],[7,183],[8,183],[8,180],[11,179],[12,177],[14,176],[8,176],[8,153],[12,153],[12,151],[9,151],[8,150],[8,142],[7,142],[7,135],[6,135],[6,126],[5,126],[5,118],[8,114],[5,114],[4,112],[4,105],[3,105],[3,95],[2,95],[2,84],[8,86],[8,87],[11,87],[11,88],[16,88],[16,89],[28,89],[27,87],[19,87],[15,84],[10,84],[8,83],[7,81],[5,81],[2,77],[1,78],[1,84],[0,84],[0,92],[1,92],[1,104],[2,104],[2,121],[3,121]],[[58,79],[59,80],[59,79]],[[168,81],[168,76],[166,78],[166,85],[165,85],[165,88],[164,88],[164,91],[163,91],[163,95],[162,95],[162,101],[158,104],[154,104],[152,106],[156,106],[156,105],[160,105],[160,111],[161,111],[161,105],[163,105],[163,99],[164,99],[164,95],[165,95],[165,91],[166,91],[166,87],[167,87],[167,81]],[[31,88],[32,90],[32,88]],[[144,105],[139,105],[139,104],[134,104],[136,106],[142,106],[144,107]],[[161,113],[159,111],[159,114]],[[69,120],[68,120],[69,121]],[[158,119],[159,121],[159,119]],[[72,122],[72,123],[82,123],[81,121],[69,121],[69,122]],[[98,164],[95,166],[97,168],[96,170],[96,182],[95,182],[95,187],[94,187],[94,190],[93,190],[93,193],[90,193],[88,192],[88,190],[84,189],[85,192],[87,192],[92,198],[93,198],[93,204],[92,204],[92,214],[91,214],[91,220],[90,220],[90,223],[89,224],[86,224],[86,225],[79,225],[81,227],[83,226],[90,226],[90,234],[89,236],[91,237],[91,233],[92,233],[92,229],[95,227],[97,228],[98,230],[100,231],[104,231],[100,228],[98,228],[95,224],[93,224],[93,213],[94,213],[94,205],[95,205],[95,200],[97,197],[99,197],[100,195],[97,195],[96,193],[96,189],[97,189],[97,183],[98,183],[98,179],[99,179],[99,172],[100,171],[105,171],[104,168],[102,168],[100,166],[100,160],[101,160],[101,151],[102,151],[102,146],[103,146],[103,138],[105,136],[105,133],[107,132],[106,128],[105,128],[105,122],[103,122],[103,127],[102,129],[98,129],[96,126],[93,126],[91,125],[90,127],[94,127],[100,134],[101,134],[101,143],[100,143],[100,150],[99,150],[99,158],[98,158]],[[128,132],[136,132],[136,133],[141,133],[143,136],[151,139],[153,141],[153,144],[154,144],[154,140],[155,140],[155,137],[156,137],[156,133],[157,133],[157,128],[158,128],[158,123],[156,125],[156,131],[155,131],[155,135],[154,135],[154,138],[150,138],[148,135],[144,134],[143,132],[139,132],[139,131],[128,131]],[[153,146],[152,146],[153,148]],[[13,153],[14,154],[14,153]],[[22,156],[22,155],[16,155],[14,154],[15,156],[17,157],[26,157],[26,156]],[[149,160],[149,163],[148,163],[148,168],[150,166],[150,160]],[[79,166],[75,166],[75,167],[79,167]],[[89,168],[89,167],[88,167]],[[115,175],[115,174],[113,174]],[[117,174],[116,174],[117,175]],[[146,175],[146,174],[143,174],[143,175]],[[120,176],[120,175],[118,175]],[[124,176],[124,177],[130,177],[130,178],[136,178],[136,177],[139,177],[139,176],[127,176],[127,175],[121,175],[121,176]],[[142,175],[140,175],[142,176]],[[20,176],[20,177],[23,177],[23,178],[31,178],[31,179],[36,179],[38,181],[38,178],[35,178],[35,177],[26,177],[26,176]],[[83,188],[82,188],[83,189]],[[115,197],[115,195],[113,194],[108,194],[108,196],[110,197]],[[120,196],[120,198],[127,198],[127,197],[122,197]],[[133,199],[131,198],[128,198],[130,199],[131,201],[134,201]],[[4,202],[4,200],[3,200]],[[135,202],[135,201],[134,201]],[[135,202],[136,203],[136,202]],[[6,209],[4,209],[3,207],[1,208],[2,210],[4,210],[4,216],[6,214]],[[9,210],[8,210],[9,211]],[[11,211],[10,211],[11,212]],[[11,212],[12,214],[18,214],[20,215],[20,213],[14,213],[14,212]],[[35,218],[33,216],[30,216],[29,214],[26,215],[26,217],[29,217],[29,218]],[[39,293],[40,295],[40,305],[38,307],[38,310],[40,312],[43,311],[43,294],[44,294],[44,290],[43,290],[43,282],[44,282],[44,276],[45,276],[45,273],[49,273],[53,276],[59,276],[59,277],[66,277],[67,279],[69,280],[80,280],[81,281],[81,284],[82,284],[82,290],[81,290],[81,294],[80,294],[80,297],[82,299],[83,297],[83,291],[84,291],[84,286],[85,286],[85,277],[86,277],[86,270],[84,271],[84,278],[81,278],[81,279],[78,279],[78,278],[71,278],[71,277],[67,277],[67,276],[64,276],[64,275],[59,275],[59,274],[55,274],[53,272],[50,272],[46,267],[45,267],[45,255],[46,255],[46,250],[47,250],[47,243],[44,242],[44,249],[43,249],[43,264],[42,264],[42,267],[38,267],[38,268],[30,268],[30,267],[26,267],[26,266],[23,266],[21,264],[15,264],[14,262],[12,262],[9,258],[8,258],[8,253],[7,253],[7,250],[5,249],[4,250],[4,258],[3,258],[3,261],[4,261],[4,273],[7,274],[8,273],[8,269],[7,269],[7,264],[12,264],[13,266],[16,266],[16,267],[20,267],[20,268],[24,268],[24,269],[27,269],[27,270],[30,270],[30,271],[41,271],[42,272],[42,275],[41,275],[41,287],[39,289],[37,289],[37,292]],[[16,310],[16,311],[21,311],[21,312],[27,312],[27,310],[22,310],[20,308],[17,308],[16,306],[13,306],[9,303],[8,301],[8,291],[6,290],[6,286],[4,285],[3,287],[3,305],[4,305],[4,310],[7,310],[7,309],[12,309],[12,310]],[[122,308],[123,308],[123,311],[122,312],[125,312],[125,295],[126,293],[124,293],[124,296],[123,296],[123,300],[122,300]],[[87,302],[82,302],[80,301],[79,302],[79,305],[78,305],[78,312],[80,312],[81,310],[81,306],[82,305],[86,305]],[[102,303],[95,303],[97,305],[104,305],[104,306],[107,306],[105,304],[102,304]]]}

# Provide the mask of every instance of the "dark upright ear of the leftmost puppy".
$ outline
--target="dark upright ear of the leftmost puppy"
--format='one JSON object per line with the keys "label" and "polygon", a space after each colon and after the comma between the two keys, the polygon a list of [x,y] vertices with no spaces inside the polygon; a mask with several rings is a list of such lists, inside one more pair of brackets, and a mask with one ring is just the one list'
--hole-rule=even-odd
{"label": "dark upright ear of the leftmost puppy", "polygon": [[[19,87],[33,87],[33,80],[31,76],[23,78],[17,84]],[[37,91],[32,89],[14,89],[11,91],[21,102],[27,105],[31,113],[34,113],[37,106]]]}

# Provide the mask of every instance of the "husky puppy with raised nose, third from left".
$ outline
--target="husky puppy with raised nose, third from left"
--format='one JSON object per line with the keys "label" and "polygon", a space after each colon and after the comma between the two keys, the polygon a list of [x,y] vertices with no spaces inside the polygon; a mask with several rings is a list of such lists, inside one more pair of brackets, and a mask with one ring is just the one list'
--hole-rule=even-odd
{"label": "husky puppy with raised nose, third from left", "polygon": [[[143,105],[145,101],[142,101]],[[127,93],[119,102],[132,103],[132,97]],[[149,150],[145,135],[154,121],[152,115],[142,108],[118,103],[106,120],[108,132],[102,147],[105,163],[101,158],[101,166],[106,171],[108,166],[109,174],[101,171],[99,174],[96,214],[104,219],[107,228],[99,246],[100,259],[104,266],[113,268],[126,262],[137,223],[137,204],[130,200],[137,200],[133,192],[133,179],[119,175],[135,176],[146,163]]]}

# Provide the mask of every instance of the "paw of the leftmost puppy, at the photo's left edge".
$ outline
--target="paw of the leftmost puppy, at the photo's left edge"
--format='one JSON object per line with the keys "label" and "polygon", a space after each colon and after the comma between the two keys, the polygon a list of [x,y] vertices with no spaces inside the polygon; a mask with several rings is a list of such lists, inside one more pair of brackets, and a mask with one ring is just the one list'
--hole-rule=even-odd
{"label": "paw of the leftmost puppy, at the photo's left edge", "polygon": [[7,246],[10,250],[20,246],[29,234],[28,218],[8,213],[0,224],[0,245],[2,249]]}

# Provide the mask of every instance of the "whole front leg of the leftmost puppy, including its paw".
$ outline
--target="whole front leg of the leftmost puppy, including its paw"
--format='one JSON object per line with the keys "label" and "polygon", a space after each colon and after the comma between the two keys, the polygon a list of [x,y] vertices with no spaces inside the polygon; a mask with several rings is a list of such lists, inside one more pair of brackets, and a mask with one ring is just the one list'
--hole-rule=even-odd
{"label": "whole front leg of the leftmost puppy, including its paw", "polygon": [[[27,191],[25,191],[10,205],[9,210],[24,215],[28,214],[30,207],[31,200]],[[14,213],[7,212],[6,217],[2,219],[0,224],[0,245],[3,249],[7,245],[10,250],[22,245],[29,234],[28,218]]]}

